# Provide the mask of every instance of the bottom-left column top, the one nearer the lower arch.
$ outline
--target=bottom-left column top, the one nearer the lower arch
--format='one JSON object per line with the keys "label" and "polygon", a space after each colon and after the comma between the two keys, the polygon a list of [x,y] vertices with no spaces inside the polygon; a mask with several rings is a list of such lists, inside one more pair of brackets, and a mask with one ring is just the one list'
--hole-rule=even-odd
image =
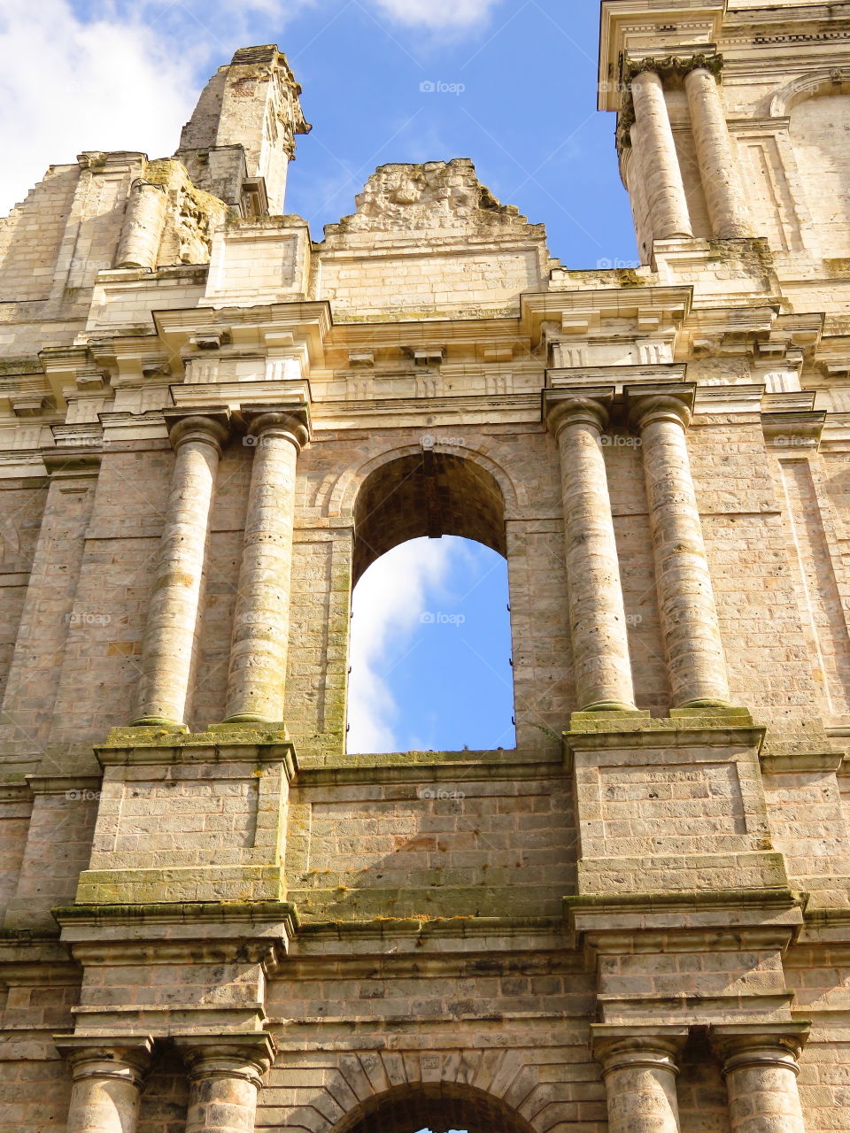
{"label": "bottom-left column top, the one nearer the lower arch", "polygon": [[178,1039],[189,1075],[186,1133],[254,1133],[262,1075],[274,1056],[265,1036]]}

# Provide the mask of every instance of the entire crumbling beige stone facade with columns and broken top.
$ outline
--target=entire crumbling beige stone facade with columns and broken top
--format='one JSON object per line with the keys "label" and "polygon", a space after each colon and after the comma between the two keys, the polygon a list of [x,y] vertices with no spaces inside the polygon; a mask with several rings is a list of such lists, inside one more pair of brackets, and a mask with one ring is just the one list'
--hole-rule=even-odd
{"label": "entire crumbling beige stone facade with columns and broken top", "polygon": [[[850,1128],[850,5],[602,31],[637,270],[466,160],[313,241],[271,46],[0,222],[1,1130]],[[349,757],[441,534],[517,749]]]}

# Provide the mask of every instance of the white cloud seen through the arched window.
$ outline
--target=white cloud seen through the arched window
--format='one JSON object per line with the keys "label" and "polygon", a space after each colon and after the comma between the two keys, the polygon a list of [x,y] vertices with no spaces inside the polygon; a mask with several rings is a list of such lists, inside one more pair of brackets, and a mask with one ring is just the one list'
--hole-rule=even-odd
{"label": "white cloud seen through the arched window", "polygon": [[354,593],[348,750],[399,751],[399,706],[381,671],[390,642],[403,653],[422,614],[443,587],[457,552],[453,539],[402,543],[365,572]]}

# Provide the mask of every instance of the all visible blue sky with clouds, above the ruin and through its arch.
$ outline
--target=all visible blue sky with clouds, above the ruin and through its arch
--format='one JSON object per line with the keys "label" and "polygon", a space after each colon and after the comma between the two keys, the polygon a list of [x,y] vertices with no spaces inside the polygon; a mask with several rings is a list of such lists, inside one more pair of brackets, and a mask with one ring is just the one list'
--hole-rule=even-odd
{"label": "all visible blue sky with clouds, above the ruin and through its arch", "polygon": [[[597,0],[3,0],[0,214],[83,150],[177,147],[207,77],[278,43],[304,87],[287,211],[314,239],[376,165],[471,157],[570,267],[630,265]],[[436,90],[428,90],[432,85]],[[511,747],[503,560],[460,540],[391,552],[355,593],[349,750]],[[449,621],[423,620],[443,614]],[[458,621],[462,619],[462,621]]]}

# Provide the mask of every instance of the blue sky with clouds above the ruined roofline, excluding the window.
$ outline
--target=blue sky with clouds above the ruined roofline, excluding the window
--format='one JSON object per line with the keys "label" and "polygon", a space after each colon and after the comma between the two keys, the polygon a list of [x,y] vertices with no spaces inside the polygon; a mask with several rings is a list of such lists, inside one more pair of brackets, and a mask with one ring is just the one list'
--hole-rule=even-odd
{"label": "blue sky with clouds above the ruined roofline, excluding the window", "polygon": [[214,68],[277,42],[314,127],[288,201],[314,238],[377,164],[458,156],[569,266],[630,261],[597,39],[597,0],[5,0],[0,213],[82,150],[173,152]]}

